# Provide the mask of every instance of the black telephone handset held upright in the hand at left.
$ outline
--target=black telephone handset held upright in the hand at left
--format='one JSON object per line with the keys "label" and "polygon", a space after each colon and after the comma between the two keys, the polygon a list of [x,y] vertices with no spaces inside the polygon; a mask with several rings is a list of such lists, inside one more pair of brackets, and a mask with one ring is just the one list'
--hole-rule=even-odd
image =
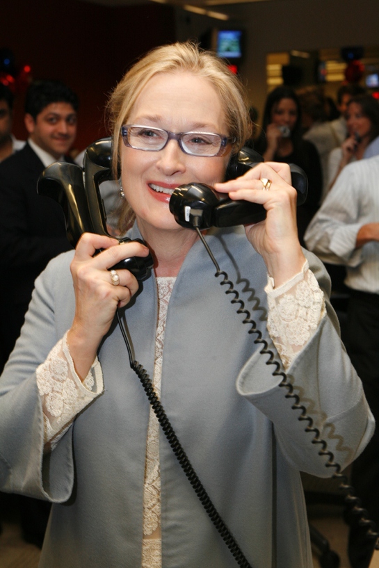
{"label": "black telephone handset held upright in the hand at left", "polygon": [[[67,238],[73,247],[84,232],[110,236],[99,185],[111,179],[111,159],[111,138],[102,138],[86,149],[83,168],[72,163],[54,162],[38,179],[38,193],[51,197],[62,206]],[[118,240],[120,243],[131,241],[127,237]],[[136,241],[143,243],[140,238]],[[152,266],[152,255],[149,254],[147,257],[124,259],[111,269],[127,268],[138,280],[143,280]]]}

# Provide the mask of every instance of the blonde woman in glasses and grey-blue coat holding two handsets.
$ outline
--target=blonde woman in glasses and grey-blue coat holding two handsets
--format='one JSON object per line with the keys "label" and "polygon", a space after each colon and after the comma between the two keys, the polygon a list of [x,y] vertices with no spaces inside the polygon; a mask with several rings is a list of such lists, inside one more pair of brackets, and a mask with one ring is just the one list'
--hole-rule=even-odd
{"label": "blonde woman in glasses and grey-blue coat holding two handsets", "polygon": [[[311,567],[299,470],[330,469],[197,233],[168,208],[174,188],[193,181],[264,204],[266,221],[205,238],[268,341],[269,305],[284,366],[344,466],[371,436],[371,414],[314,277],[328,287],[325,271],[310,254],[308,268],[298,243],[289,168],[262,163],[223,183],[248,136],[247,105],[225,65],[193,44],[136,63],[110,109],[124,225],[133,216],[128,234],[147,246],[85,234],[38,279],[0,383],[1,487],[54,503],[42,567],[236,566],[129,369],[113,323],[120,309],[136,359],[250,565]],[[154,274],[143,285],[127,270],[109,273],[147,247]]]}

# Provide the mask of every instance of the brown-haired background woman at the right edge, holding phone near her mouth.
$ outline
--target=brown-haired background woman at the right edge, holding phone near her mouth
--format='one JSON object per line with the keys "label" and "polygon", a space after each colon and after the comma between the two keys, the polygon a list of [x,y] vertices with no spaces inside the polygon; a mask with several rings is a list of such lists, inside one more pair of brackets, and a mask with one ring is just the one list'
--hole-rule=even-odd
{"label": "brown-haired background woman at the right edge, holding phone near her mouth", "polygon": [[329,189],[344,169],[364,157],[366,148],[379,136],[379,104],[371,95],[357,95],[350,99],[347,108],[348,138],[329,155]]}

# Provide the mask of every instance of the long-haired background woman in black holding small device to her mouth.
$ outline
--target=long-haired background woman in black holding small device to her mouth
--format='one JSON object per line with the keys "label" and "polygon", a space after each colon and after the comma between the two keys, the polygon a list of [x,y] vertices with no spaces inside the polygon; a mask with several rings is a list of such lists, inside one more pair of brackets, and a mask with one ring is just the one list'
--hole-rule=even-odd
{"label": "long-haired background woman in black holding small device to her mouth", "polygon": [[300,102],[291,88],[280,86],[268,95],[256,149],[265,161],[294,163],[307,174],[307,202],[297,210],[298,236],[304,245],[305,229],[320,205],[323,179],[316,147],[301,137]]}

